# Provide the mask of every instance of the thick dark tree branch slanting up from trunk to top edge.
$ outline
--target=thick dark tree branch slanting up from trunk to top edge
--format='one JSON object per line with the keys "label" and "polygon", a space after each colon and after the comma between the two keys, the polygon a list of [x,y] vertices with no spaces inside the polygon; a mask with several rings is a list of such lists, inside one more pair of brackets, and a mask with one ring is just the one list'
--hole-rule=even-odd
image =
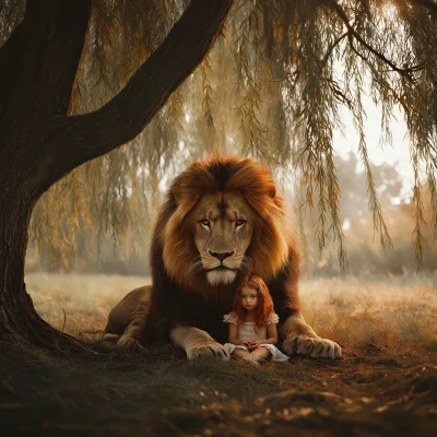
{"label": "thick dark tree branch slanting up from trunk to top edge", "polygon": [[135,138],[191,74],[220,34],[233,0],[192,0],[163,44],[101,109],[52,120],[50,185],[86,161]]}

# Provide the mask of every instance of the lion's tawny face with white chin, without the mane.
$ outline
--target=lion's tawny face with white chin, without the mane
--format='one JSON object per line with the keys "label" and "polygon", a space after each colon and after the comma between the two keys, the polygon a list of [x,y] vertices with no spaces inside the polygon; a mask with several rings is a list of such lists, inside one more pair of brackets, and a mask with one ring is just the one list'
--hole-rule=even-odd
{"label": "lion's tawny face with white chin, without the mane", "polygon": [[206,271],[212,285],[232,283],[248,265],[245,257],[253,228],[253,212],[237,193],[205,194],[190,214],[200,255],[194,268]]}

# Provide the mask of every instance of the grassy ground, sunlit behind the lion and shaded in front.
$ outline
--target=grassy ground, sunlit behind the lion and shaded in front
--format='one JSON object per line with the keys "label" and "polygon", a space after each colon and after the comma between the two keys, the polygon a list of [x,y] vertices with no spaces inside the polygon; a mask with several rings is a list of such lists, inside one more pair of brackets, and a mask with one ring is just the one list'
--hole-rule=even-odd
{"label": "grassy ground, sunlit behind the lion and shaded in front", "polygon": [[[93,340],[146,280],[32,273],[26,283],[46,320]],[[437,276],[303,281],[305,316],[342,345],[339,361],[255,368],[189,363],[170,346],[93,358],[11,350],[0,356],[1,435],[437,435],[436,285]]]}

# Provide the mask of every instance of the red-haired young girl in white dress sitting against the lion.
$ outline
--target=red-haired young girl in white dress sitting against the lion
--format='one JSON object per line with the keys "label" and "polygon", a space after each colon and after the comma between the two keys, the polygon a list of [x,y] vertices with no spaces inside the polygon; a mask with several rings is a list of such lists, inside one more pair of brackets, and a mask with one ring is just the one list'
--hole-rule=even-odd
{"label": "red-haired young girl in white dress sitting against the lion", "polygon": [[232,356],[251,363],[270,358],[286,362],[288,357],[279,351],[273,300],[261,277],[252,274],[243,281],[234,298],[234,310],[224,316],[229,323],[229,343],[225,344]]}

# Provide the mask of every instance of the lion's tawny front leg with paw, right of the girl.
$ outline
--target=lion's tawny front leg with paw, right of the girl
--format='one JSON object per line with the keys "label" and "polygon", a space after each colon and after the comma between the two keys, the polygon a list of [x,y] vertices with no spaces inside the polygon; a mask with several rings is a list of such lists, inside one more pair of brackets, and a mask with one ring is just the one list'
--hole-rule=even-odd
{"label": "lion's tawny front leg with paw, right of the girl", "polygon": [[287,355],[309,355],[312,358],[341,358],[341,347],[333,341],[322,339],[307,324],[302,314],[290,316],[280,328]]}

